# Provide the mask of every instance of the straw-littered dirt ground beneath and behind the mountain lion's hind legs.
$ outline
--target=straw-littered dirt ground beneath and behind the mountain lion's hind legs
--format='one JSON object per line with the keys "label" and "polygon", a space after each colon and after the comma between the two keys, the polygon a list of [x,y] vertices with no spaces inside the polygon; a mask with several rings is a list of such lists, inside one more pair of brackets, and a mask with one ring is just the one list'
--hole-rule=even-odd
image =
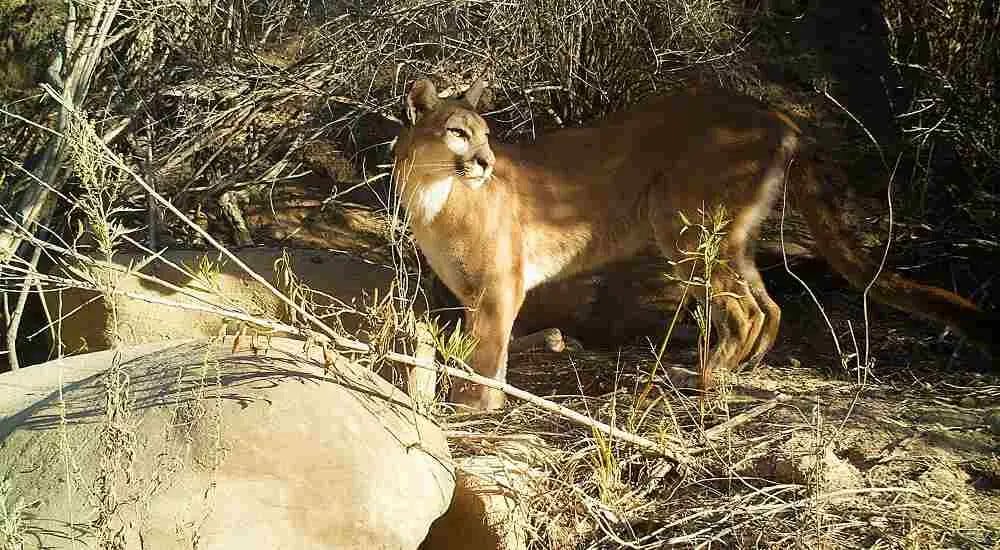
{"label": "straw-littered dirt ground beneath and behind the mountain lion's hind legs", "polygon": [[[881,308],[870,311],[874,366],[859,370],[849,357],[841,367],[811,299],[776,282],[780,345],[718,397],[671,389],[666,367],[696,364],[680,342],[660,366],[652,345],[511,358],[512,384],[654,441],[683,441],[696,457],[689,470],[525,404],[451,419],[494,438],[545,440],[550,452],[533,466],[549,481],[524,497],[532,548],[997,543],[1000,437],[991,414],[1000,378],[968,370],[977,356],[955,355],[950,337]],[[814,282],[838,336],[852,342],[844,327],[863,318],[857,296],[833,278]],[[863,349],[863,334],[856,339]],[[768,412],[720,429],[769,403]],[[480,439],[453,443],[459,455],[492,448]]]}

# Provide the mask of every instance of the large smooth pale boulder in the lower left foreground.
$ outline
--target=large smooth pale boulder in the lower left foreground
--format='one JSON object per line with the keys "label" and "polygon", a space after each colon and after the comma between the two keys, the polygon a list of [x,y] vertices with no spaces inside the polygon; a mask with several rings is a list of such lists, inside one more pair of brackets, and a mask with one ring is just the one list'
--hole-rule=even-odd
{"label": "large smooth pale boulder in the lower left foreground", "polygon": [[232,345],[0,375],[13,547],[417,548],[454,491],[441,430],[346,359],[280,338]]}

